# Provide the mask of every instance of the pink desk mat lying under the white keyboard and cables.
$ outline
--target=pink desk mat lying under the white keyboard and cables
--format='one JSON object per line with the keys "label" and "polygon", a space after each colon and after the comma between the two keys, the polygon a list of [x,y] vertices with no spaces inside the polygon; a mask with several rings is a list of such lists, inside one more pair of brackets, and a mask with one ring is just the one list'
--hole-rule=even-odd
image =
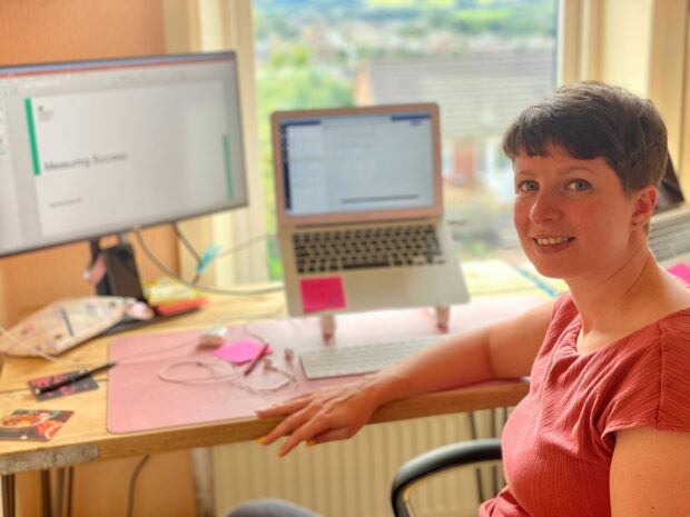
{"label": "pink desk mat lying under the white keyboard and cables", "polygon": [[[450,332],[457,334],[516,316],[544,301],[539,295],[482,298],[451,310]],[[402,309],[336,317],[336,340],[324,345],[317,317],[266,320],[228,327],[226,341],[260,336],[274,348],[269,356],[280,368],[294,372],[296,382],[270,394],[256,394],[228,380],[214,384],[174,384],[159,378],[161,368],[177,361],[209,358],[213,349],[199,348],[203,329],[148,336],[115,338],[110,360],[118,361],[108,375],[108,420],[110,433],[134,433],[166,427],[253,417],[254,411],[302,392],[342,384],[348,377],[305,379],[299,350],[325,346],[347,346],[402,336],[444,335],[435,329],[430,309]],[[296,351],[286,364],[284,350]],[[198,376],[198,369],[180,366],[175,375]],[[244,367],[240,367],[244,369]],[[255,387],[272,386],[284,377],[258,366],[248,377]]]}

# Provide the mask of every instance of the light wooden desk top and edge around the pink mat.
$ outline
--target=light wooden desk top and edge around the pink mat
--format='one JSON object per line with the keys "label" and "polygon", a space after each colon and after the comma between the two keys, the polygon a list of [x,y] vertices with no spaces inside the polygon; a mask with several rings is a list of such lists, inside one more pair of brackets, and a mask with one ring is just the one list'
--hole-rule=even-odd
{"label": "light wooden desk top and edge around the pink mat", "polygon": [[[518,307],[526,309],[528,300],[534,305],[539,298],[532,296],[514,299]],[[495,299],[499,305],[505,298]],[[266,295],[247,299],[217,299],[203,310],[147,326],[137,334],[191,329],[217,325],[245,322],[284,316],[283,295]],[[110,338],[95,339],[60,356],[66,360],[93,366],[107,360]],[[65,371],[63,362],[55,365],[42,359],[8,358],[0,378],[0,411],[11,412],[18,408],[37,407],[33,396],[27,389],[27,379]],[[146,433],[114,435],[106,428],[107,374],[97,376],[100,388],[72,397],[40,402],[46,409],[68,409],[75,415],[65,429],[49,443],[0,441],[0,475],[3,479],[3,504],[6,517],[12,516],[13,475],[24,470],[63,467],[100,459],[122,458],[136,455],[161,453],[194,447],[206,447],[235,441],[250,440],[264,436],[277,420],[254,418],[216,421],[204,425],[158,429]],[[381,407],[372,422],[393,421],[432,415],[470,411],[515,405],[528,391],[525,380],[494,381],[440,394],[425,395],[395,401]]]}

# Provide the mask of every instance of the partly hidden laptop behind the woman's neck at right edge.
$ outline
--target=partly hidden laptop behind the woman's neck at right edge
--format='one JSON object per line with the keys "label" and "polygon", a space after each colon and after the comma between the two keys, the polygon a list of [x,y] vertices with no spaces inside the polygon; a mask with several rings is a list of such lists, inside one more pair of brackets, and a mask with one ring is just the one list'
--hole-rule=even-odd
{"label": "partly hidden laptop behind the woman's neck at right edge", "polygon": [[680,262],[690,265],[690,206],[686,202],[671,157],[649,225],[649,247],[663,267]]}

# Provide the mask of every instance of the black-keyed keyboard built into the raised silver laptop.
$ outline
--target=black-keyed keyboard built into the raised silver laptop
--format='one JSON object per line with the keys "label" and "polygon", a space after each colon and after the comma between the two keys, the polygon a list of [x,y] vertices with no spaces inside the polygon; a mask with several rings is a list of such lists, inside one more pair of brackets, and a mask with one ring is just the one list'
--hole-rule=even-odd
{"label": "black-keyed keyboard built into the raised silver laptop", "polygon": [[444,262],[433,225],[299,232],[293,247],[299,274]]}

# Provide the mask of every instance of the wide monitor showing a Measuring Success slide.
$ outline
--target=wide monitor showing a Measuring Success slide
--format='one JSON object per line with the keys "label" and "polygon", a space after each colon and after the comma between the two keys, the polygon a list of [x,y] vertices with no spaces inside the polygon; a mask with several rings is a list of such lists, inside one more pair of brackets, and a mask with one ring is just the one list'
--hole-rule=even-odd
{"label": "wide monitor showing a Measuring Success slide", "polygon": [[0,67],[0,256],[247,203],[234,52]]}

